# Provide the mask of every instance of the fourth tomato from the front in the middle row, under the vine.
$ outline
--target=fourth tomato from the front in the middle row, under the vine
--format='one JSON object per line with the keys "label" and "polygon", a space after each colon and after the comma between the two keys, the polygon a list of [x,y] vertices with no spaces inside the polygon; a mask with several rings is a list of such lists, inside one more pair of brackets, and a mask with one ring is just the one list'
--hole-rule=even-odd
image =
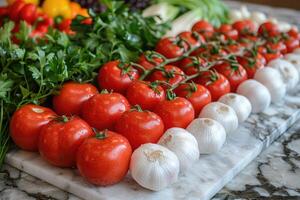
{"label": "fourth tomato from the front in the middle row, under the vine", "polygon": [[[184,79],[184,73],[183,71],[175,67],[173,65],[166,65],[164,66],[164,71],[158,70],[153,72],[149,80],[151,82],[154,81],[165,81],[169,83],[170,85],[176,85],[180,83]],[[168,88],[166,85],[162,85],[163,88]]]}

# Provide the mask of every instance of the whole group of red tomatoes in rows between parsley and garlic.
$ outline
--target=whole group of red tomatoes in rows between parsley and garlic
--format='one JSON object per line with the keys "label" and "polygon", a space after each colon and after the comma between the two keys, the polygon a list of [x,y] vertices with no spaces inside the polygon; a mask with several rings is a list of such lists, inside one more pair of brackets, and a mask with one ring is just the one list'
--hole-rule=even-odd
{"label": "whole group of red tomatoes in rows between parsley and garlic", "polygon": [[161,39],[137,63],[104,64],[100,93],[68,82],[53,97],[54,111],[21,107],[11,119],[12,139],[55,166],[77,167],[93,184],[114,184],[127,173],[132,150],[156,143],[168,128],[185,128],[205,105],[297,48],[299,36],[271,22],[256,32],[249,20],[218,29],[199,21],[192,32]]}

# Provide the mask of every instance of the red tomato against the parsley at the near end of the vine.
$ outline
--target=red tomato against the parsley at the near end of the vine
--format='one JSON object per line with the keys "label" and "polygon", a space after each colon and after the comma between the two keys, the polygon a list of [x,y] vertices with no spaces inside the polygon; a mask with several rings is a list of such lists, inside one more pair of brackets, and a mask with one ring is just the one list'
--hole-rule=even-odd
{"label": "red tomato against the parsley at the near end of the vine", "polygon": [[104,64],[98,74],[98,84],[101,89],[113,90],[124,94],[128,86],[139,78],[139,74],[132,66],[120,66],[119,61]]}

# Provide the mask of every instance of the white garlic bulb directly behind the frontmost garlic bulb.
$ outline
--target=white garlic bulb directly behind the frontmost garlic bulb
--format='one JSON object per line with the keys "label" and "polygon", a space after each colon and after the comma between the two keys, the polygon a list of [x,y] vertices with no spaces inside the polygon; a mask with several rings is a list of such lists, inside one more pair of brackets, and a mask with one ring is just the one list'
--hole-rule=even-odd
{"label": "white garlic bulb directly behind the frontmost garlic bulb", "polygon": [[183,128],[170,128],[158,143],[174,152],[179,160],[180,171],[187,171],[195,161],[199,160],[199,148],[196,138]]}

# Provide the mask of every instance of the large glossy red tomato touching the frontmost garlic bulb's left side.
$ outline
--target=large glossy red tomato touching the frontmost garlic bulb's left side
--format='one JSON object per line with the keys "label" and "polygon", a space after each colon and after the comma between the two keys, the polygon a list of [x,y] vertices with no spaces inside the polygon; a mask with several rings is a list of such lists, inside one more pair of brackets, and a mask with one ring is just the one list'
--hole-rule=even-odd
{"label": "large glossy red tomato touching the frontmost garlic bulb's left side", "polygon": [[88,138],[79,147],[77,168],[94,185],[112,185],[126,175],[131,154],[131,146],[124,136],[106,131],[105,138]]}

